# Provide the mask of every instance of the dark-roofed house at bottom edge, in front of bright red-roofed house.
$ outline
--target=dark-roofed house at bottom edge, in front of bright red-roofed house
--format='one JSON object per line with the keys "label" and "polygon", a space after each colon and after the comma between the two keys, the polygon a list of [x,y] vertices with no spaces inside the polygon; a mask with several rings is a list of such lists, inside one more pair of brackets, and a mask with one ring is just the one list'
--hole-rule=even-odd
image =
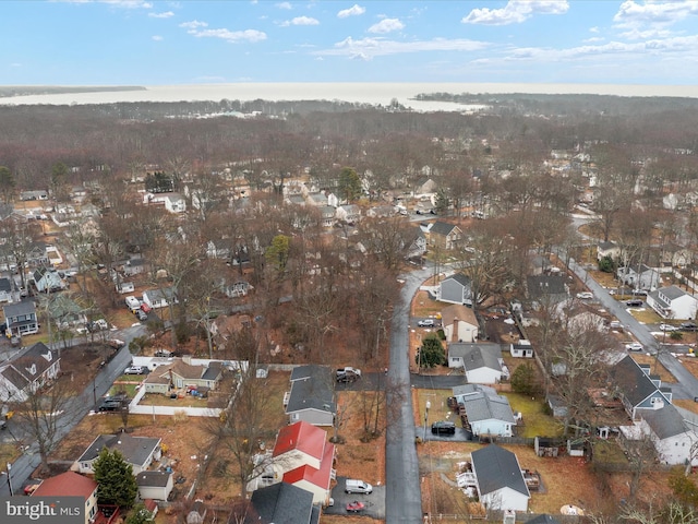
{"label": "dark-roofed house at bottom edge, in front of bright red-roofed house", "polygon": [[250,498],[243,524],[317,524],[320,507],[313,504],[313,493],[278,483],[256,489]]}

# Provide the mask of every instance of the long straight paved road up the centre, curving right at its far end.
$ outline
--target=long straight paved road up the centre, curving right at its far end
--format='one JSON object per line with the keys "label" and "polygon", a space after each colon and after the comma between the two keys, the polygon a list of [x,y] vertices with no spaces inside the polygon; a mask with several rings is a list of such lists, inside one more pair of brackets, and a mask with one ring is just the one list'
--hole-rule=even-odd
{"label": "long straight paved road up the centre, curving right at its far end", "polygon": [[414,416],[410,386],[409,312],[412,297],[431,275],[431,270],[418,270],[402,276],[400,300],[395,305],[390,325],[390,367],[388,406],[399,405],[388,421],[385,440],[385,515],[386,524],[420,524],[422,499],[419,462],[414,445]]}

